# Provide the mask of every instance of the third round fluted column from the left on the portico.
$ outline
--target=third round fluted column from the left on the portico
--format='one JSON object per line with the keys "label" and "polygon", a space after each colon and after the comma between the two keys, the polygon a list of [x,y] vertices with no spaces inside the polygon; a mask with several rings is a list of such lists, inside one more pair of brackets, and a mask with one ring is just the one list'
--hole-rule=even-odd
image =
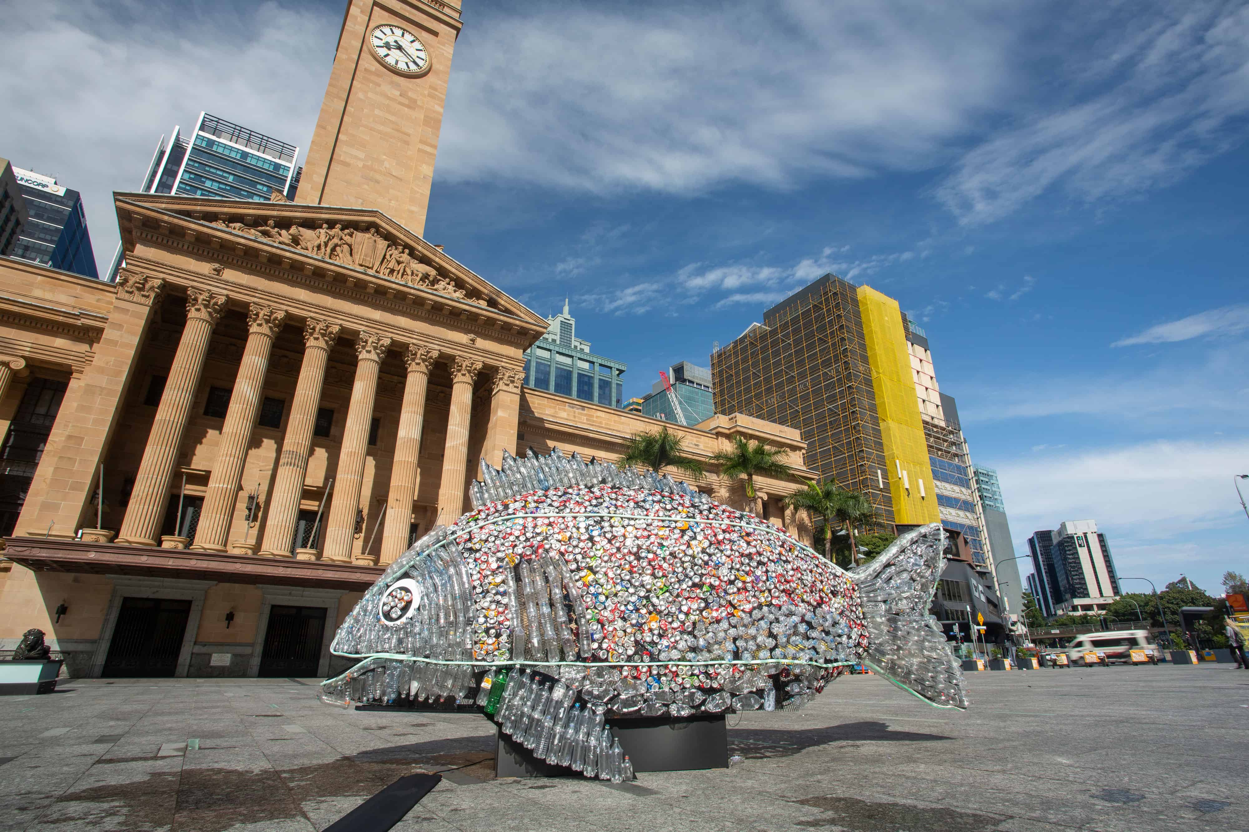
{"label": "third round fluted column from the left on the portico", "polygon": [[265,523],[265,541],[260,554],[267,558],[287,558],[295,539],[295,523],[300,518],[300,499],[304,496],[304,475],[309,468],[312,449],[312,430],[316,428],[316,409],[321,403],[321,385],[325,383],[325,365],[330,351],[338,341],[338,324],[309,318],[304,324],[304,363],[295,383],[291,415],[286,419],[282,453],[277,459],[277,478],[274,495],[269,498],[269,520]]}

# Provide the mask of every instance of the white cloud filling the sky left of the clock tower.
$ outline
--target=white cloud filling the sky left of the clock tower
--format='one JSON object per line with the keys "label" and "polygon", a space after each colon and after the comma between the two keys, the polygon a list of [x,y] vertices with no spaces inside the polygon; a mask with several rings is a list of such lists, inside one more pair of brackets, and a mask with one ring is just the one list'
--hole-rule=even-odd
{"label": "white cloud filling the sky left of the clock tower", "polygon": [[305,5],[0,0],[0,153],[82,193],[96,261],[117,243],[112,191],[135,191],[200,110],[300,145],[320,110],[341,14]]}

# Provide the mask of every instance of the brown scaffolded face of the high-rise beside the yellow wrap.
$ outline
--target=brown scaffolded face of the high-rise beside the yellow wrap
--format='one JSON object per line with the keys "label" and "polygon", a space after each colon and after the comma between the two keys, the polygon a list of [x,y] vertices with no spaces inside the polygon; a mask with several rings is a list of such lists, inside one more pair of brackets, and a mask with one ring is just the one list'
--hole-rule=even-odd
{"label": "brown scaffolded face of the high-rise beside the yellow wrap", "polygon": [[[899,317],[899,336],[901,326]],[[876,343],[887,341],[879,329],[873,331]],[[904,356],[906,347],[898,348]],[[801,430],[807,467],[864,494],[881,528],[926,521],[913,519],[906,508],[896,511],[894,481],[899,489],[921,485],[901,459],[886,457],[859,289],[853,283],[826,274],[767,309],[763,323],[751,324],[712,353],[711,373],[716,413],[742,413]],[[907,378],[909,384],[909,373]],[[914,400],[908,390],[906,403],[898,399],[886,417],[901,415],[909,404],[918,427]],[[891,434],[891,448],[897,444],[893,439]],[[918,479],[929,478],[931,485],[927,460],[923,468]],[[931,519],[937,519],[936,501]]]}

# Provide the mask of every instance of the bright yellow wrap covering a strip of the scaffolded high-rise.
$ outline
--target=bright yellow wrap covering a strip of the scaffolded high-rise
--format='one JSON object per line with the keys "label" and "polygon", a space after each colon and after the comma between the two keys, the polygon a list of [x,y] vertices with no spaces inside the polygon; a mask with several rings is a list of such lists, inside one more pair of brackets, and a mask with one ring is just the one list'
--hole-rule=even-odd
{"label": "bright yellow wrap covering a strip of the scaffolded high-rise", "polygon": [[897,301],[869,286],[859,287],[858,301],[888,467],[886,475],[893,496],[893,519],[902,524],[940,523],[902,309]]}

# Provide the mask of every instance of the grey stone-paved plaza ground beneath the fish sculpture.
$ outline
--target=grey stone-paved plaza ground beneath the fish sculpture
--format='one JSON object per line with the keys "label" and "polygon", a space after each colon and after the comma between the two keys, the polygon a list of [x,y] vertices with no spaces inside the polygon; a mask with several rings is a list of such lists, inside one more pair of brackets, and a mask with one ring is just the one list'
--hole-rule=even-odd
{"label": "grey stone-paved plaza ground beneath the fish sculpture", "polygon": [[731,716],[729,770],[493,780],[475,713],[345,711],[315,680],[82,680],[0,699],[0,830],[321,830],[416,771],[396,830],[1247,830],[1249,674],[983,672],[967,713],[874,676]]}

